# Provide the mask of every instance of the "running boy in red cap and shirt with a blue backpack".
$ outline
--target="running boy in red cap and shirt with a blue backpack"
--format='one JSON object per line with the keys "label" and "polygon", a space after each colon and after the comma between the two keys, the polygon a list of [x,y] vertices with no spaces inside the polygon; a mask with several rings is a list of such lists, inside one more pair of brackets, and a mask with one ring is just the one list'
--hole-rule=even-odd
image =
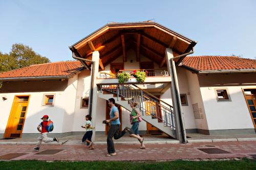
{"label": "running boy in red cap and shirt with a blue backpack", "polygon": [[42,116],[42,122],[37,126],[37,130],[41,133],[41,135],[37,138],[37,144],[34,148],[35,151],[39,151],[42,141],[44,141],[45,143],[53,141],[59,142],[57,137],[47,137],[49,132],[53,130],[53,122],[51,120],[48,121],[48,118],[48,115]]}

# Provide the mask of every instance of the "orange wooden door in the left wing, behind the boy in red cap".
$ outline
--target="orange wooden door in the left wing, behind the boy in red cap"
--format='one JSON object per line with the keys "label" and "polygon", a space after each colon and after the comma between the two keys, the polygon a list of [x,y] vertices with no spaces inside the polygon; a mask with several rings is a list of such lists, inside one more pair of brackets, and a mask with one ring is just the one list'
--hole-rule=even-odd
{"label": "orange wooden door in the left wing, behind the boy in red cap", "polygon": [[29,96],[15,96],[4,138],[19,138],[25,123]]}

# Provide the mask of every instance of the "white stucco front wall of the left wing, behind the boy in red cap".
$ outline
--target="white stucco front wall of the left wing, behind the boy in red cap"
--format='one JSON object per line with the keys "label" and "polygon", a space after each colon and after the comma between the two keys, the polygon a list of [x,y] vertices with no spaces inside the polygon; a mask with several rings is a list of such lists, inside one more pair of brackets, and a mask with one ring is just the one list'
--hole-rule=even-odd
{"label": "white stucco front wall of the left wing, behind the boy in red cap", "polygon": [[[47,82],[47,81],[46,81]],[[0,93],[7,100],[0,100],[0,133],[5,133],[15,95],[30,95],[23,133],[38,133],[36,127],[45,114],[54,122],[53,133],[72,131],[77,76],[69,79],[64,91]],[[43,106],[44,94],[55,94],[54,106]]]}

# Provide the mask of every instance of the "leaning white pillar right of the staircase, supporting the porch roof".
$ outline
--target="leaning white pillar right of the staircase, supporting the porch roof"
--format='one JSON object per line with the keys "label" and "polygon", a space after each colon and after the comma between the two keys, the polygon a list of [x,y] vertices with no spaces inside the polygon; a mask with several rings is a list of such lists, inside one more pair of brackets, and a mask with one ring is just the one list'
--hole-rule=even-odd
{"label": "leaning white pillar right of the staircase, supporting the porch roof", "polygon": [[172,79],[170,92],[172,94],[172,101],[173,101],[174,114],[175,114],[176,136],[181,143],[186,143],[187,142],[186,130],[184,126],[184,117],[183,117],[183,112],[181,108],[180,90],[179,90],[176,66],[175,66],[175,62],[172,60],[172,58],[174,58],[173,50],[170,48],[166,48],[165,57],[166,57],[167,68],[170,73],[170,77]]}

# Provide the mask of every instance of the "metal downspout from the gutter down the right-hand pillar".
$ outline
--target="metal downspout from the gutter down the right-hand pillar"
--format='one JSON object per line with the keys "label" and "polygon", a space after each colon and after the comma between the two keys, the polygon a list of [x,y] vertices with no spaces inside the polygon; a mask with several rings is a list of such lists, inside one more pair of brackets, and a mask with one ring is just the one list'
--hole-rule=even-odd
{"label": "metal downspout from the gutter down the right-hand pillar", "polygon": [[[177,56],[177,57],[174,57],[174,58],[171,58],[171,60],[174,60],[174,59],[179,59],[179,58],[182,58],[182,57],[186,57],[187,55],[189,55],[189,54],[193,54],[194,53],[194,47],[192,48],[192,51],[191,52],[188,52],[188,53],[185,53],[185,54],[182,54],[182,55],[179,55],[179,56]],[[183,59],[182,59],[183,60]],[[182,61],[182,60],[180,60],[180,62]],[[173,63],[173,62],[171,62],[171,63]],[[179,63],[178,63],[179,64]],[[174,67],[176,67],[176,65],[178,65],[178,64],[175,64],[175,65],[173,65]],[[178,91],[179,91],[179,89],[177,88],[177,86],[176,86],[176,84],[178,83],[178,78],[177,78],[177,73],[176,73],[176,75],[174,76],[174,84],[175,84],[175,91],[176,91],[176,101],[178,102],[178,106],[181,106],[181,104],[180,104],[180,100],[179,100],[179,96],[178,96]],[[182,143],[186,143],[186,136],[185,136],[185,133],[184,133],[184,131],[185,131],[185,129],[184,129],[184,122],[182,121],[182,114],[181,114],[181,109],[178,107],[178,109],[179,109],[179,111],[178,111],[178,116],[179,116],[179,121],[180,121],[180,124],[182,124],[180,127],[181,127],[181,136],[182,136]]]}

